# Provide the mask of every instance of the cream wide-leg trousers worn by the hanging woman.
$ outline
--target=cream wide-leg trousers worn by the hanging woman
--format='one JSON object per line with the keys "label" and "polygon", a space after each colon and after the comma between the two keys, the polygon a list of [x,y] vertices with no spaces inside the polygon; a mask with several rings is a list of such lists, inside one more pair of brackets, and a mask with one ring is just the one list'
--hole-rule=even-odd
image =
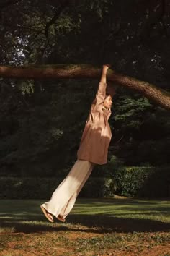
{"label": "cream wide-leg trousers worn by the hanging woman", "polygon": [[56,217],[60,215],[66,218],[93,168],[94,163],[77,160],[66,179],[53,192],[50,201],[42,204],[48,213],[52,213]]}

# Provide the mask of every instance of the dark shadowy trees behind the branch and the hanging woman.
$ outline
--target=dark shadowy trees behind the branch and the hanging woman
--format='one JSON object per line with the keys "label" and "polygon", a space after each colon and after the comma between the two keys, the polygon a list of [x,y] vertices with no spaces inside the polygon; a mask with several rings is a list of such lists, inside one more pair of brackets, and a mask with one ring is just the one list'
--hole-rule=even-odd
{"label": "dark shadowy trees behind the branch and the hanging woman", "polygon": [[[168,0],[0,2],[1,65],[107,62],[169,91],[169,46]],[[67,173],[98,82],[1,78],[1,176]],[[169,165],[168,111],[117,86],[112,113],[112,163]]]}

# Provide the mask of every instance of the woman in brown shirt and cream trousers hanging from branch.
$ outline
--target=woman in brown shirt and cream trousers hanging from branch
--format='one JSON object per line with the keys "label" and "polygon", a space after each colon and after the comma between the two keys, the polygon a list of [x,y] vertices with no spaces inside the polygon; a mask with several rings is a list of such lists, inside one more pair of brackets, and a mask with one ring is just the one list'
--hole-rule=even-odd
{"label": "woman in brown shirt and cream trousers hanging from branch", "polygon": [[108,68],[109,65],[102,67],[99,88],[81,137],[77,161],[66,179],[55,189],[50,201],[40,205],[42,212],[50,222],[54,221],[53,216],[59,221],[66,221],[66,216],[73,208],[76,197],[95,164],[107,163],[107,150],[112,137],[108,119],[114,93],[114,91],[107,92]]}

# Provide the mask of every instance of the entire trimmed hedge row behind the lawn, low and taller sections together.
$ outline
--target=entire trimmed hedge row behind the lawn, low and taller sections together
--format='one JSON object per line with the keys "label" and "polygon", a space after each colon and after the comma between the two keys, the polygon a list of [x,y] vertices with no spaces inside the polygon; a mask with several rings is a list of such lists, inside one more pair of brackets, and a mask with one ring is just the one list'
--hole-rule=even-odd
{"label": "entire trimmed hedge row behind the lawn, low and taller sections together", "polygon": [[[45,199],[61,183],[60,178],[0,178],[1,199]],[[122,167],[112,171],[112,178],[90,177],[81,197],[170,197],[170,168]]]}

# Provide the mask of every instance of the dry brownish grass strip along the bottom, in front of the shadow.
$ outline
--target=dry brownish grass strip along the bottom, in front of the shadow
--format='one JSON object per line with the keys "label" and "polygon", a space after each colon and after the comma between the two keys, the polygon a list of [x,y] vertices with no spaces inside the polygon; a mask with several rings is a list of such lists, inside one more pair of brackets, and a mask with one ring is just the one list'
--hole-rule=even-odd
{"label": "dry brownish grass strip along the bottom, in front of the shadow", "polygon": [[[18,237],[16,236],[18,235]],[[97,247],[97,244],[89,243],[89,239],[96,237],[112,236],[125,236],[121,234],[101,234],[93,233],[84,229],[79,231],[55,231],[55,232],[40,232],[31,234],[12,233],[8,237],[4,237],[4,249],[0,249],[0,256],[44,256],[44,255],[69,255],[69,256],[85,256],[85,255],[99,255],[99,256],[170,256],[170,242],[162,240],[161,236],[167,236],[166,233],[160,232],[158,241],[156,240],[157,234],[146,233],[138,234],[128,238],[125,236],[125,241],[120,239],[117,243],[114,242],[110,246],[108,242],[103,244],[102,249]],[[141,235],[141,237],[140,237]],[[3,236],[1,236],[2,238]],[[86,242],[85,247],[82,246],[81,240]],[[151,240],[150,240],[151,239]],[[74,243],[74,241],[76,243]],[[95,243],[98,240],[95,240]],[[100,243],[101,239],[99,239]],[[109,240],[107,240],[109,241]],[[112,240],[111,240],[112,241]],[[159,244],[158,244],[159,243]],[[3,244],[3,243],[2,243]],[[82,247],[82,248],[81,248]],[[114,248],[115,247],[115,248]],[[78,249],[78,250],[77,250]],[[82,250],[81,250],[82,249]],[[93,251],[94,249],[94,251]]]}

